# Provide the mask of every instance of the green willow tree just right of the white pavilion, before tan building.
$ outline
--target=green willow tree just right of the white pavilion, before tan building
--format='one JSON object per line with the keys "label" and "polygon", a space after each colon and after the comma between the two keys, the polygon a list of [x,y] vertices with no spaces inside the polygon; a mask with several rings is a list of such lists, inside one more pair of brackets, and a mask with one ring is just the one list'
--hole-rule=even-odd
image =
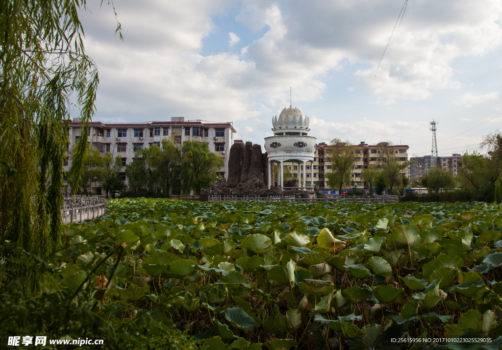
{"label": "green willow tree just right of the white pavilion, before tan building", "polygon": [[352,145],[350,141],[342,142],[340,139],[331,140],[329,157],[331,172],[326,174],[328,186],[331,189],[338,188],[341,194],[343,186],[350,186],[350,174],[354,169],[355,162],[361,157],[360,148]]}

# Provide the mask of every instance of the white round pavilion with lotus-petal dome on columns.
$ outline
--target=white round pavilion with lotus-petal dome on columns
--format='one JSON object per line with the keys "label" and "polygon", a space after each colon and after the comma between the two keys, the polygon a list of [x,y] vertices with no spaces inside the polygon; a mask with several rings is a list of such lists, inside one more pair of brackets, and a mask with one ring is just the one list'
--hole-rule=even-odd
{"label": "white round pavilion with lotus-petal dome on columns", "polygon": [[[306,164],[310,162],[310,185],[313,188],[314,177],[314,151],[317,146],[317,139],[312,136],[307,136],[309,129],[309,118],[302,115],[300,109],[284,108],[279,114],[272,117],[272,131],[274,136],[265,138],[265,150],[268,152],[268,167],[269,174],[272,174],[273,163],[278,163],[280,173],[278,171],[277,184],[284,188],[284,164],[297,163],[298,166],[298,186],[305,190],[306,185]],[[303,165],[303,184],[300,181],[300,171]],[[271,186],[271,177],[269,175],[268,186]]]}

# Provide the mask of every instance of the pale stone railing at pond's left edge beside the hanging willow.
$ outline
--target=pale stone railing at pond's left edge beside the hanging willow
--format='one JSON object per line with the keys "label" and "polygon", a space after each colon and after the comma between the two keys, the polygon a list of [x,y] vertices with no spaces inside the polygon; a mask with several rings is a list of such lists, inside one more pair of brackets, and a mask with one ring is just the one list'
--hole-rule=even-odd
{"label": "pale stone railing at pond's left edge beside the hanging willow", "polygon": [[63,205],[63,223],[93,220],[106,214],[106,199],[98,196],[67,196]]}

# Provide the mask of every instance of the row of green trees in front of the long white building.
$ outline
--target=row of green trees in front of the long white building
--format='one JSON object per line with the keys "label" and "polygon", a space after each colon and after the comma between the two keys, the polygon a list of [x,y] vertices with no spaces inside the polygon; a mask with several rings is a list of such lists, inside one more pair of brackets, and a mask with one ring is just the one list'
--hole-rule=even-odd
{"label": "row of green trees in front of the long white building", "polygon": [[[209,188],[223,164],[224,159],[211,152],[207,143],[197,141],[178,144],[165,139],[159,147],[137,150],[133,162],[126,166],[118,155],[108,153],[101,157],[99,151],[89,146],[83,160],[82,186],[90,192],[93,183],[99,184],[106,197],[114,197],[115,191],[133,197],[145,193],[162,197],[191,195]],[[120,175],[122,170],[128,180],[127,188]]]}

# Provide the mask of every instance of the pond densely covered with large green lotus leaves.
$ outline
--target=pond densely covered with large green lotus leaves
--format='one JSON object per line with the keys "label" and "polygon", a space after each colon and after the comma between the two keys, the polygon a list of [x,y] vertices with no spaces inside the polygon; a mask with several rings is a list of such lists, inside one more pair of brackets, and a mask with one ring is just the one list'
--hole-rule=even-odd
{"label": "pond densely covered with large green lotus leaves", "polygon": [[500,205],[115,199],[107,211],[69,226],[75,260],[59,272],[71,288],[93,274],[114,310],[103,316],[123,324],[148,317],[211,350],[502,344]]}

